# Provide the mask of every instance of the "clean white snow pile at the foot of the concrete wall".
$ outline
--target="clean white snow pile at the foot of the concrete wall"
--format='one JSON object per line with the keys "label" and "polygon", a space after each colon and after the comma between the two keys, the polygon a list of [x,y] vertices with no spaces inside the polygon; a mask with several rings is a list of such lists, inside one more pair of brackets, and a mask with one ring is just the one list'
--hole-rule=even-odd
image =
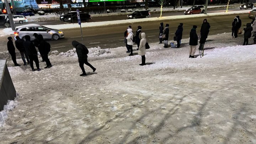
{"label": "clean white snow pile at the foot of the concrete wall", "polygon": [[[16,98],[17,97],[18,97],[18,94],[16,94]],[[14,109],[17,105],[18,105],[18,102],[16,100],[7,101],[7,104],[4,105],[4,110],[0,111],[0,127],[4,126],[4,122],[5,122],[5,119],[7,118],[8,112]]]}

